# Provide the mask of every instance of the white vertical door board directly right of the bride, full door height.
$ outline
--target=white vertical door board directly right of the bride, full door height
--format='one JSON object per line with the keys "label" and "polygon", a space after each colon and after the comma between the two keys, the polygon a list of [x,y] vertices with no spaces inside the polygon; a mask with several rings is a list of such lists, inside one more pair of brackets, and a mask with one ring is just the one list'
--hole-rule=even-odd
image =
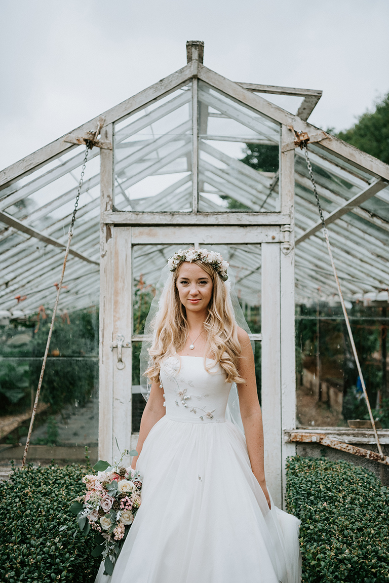
{"label": "white vertical door board directly right of the bride, full door height", "polygon": [[265,472],[274,503],[282,504],[280,248],[263,244],[262,266],[262,416]]}

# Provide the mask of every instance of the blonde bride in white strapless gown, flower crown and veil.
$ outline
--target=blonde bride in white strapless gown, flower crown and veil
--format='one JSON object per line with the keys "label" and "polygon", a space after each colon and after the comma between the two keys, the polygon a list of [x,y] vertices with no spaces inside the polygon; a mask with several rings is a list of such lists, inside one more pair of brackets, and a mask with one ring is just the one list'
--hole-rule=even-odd
{"label": "blonde bride in white strapless gown, flower crown and veil", "polygon": [[229,265],[205,249],[168,265],[132,462],[142,504],[113,575],[101,564],[96,583],[298,583],[299,521],[267,489],[253,350],[234,317]]}

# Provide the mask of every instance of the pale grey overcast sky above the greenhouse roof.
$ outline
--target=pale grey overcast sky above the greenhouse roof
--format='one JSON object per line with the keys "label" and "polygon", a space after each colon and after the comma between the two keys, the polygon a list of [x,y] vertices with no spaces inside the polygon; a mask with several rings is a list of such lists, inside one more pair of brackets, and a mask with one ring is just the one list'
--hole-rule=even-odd
{"label": "pale grey overcast sky above the greenhouse roof", "polygon": [[324,129],[389,91],[388,0],[0,0],[0,19],[0,168],[184,66],[187,40],[229,79],[322,89]]}

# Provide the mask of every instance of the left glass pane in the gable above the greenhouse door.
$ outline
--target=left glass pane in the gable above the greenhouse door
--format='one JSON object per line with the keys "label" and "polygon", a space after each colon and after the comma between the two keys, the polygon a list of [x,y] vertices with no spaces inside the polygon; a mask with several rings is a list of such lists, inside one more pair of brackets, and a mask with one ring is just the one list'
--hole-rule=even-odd
{"label": "left glass pane in the gable above the greenhouse door", "polygon": [[191,83],[114,130],[117,210],[192,208]]}

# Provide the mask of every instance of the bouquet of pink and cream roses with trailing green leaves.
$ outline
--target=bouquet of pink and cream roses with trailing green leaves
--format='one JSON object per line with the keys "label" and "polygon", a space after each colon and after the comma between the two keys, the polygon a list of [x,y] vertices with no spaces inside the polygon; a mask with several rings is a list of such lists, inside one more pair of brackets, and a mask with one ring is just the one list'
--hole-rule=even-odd
{"label": "bouquet of pink and cream roses with trailing green leaves", "polygon": [[91,529],[94,532],[96,547],[92,556],[102,555],[104,575],[112,575],[115,560],[141,505],[142,478],[132,468],[121,465],[125,454],[138,455],[138,452],[125,449],[114,465],[103,460],[97,462],[93,466],[97,475],[82,479],[86,494],[77,498],[70,508],[77,515],[80,530],[85,535]]}

